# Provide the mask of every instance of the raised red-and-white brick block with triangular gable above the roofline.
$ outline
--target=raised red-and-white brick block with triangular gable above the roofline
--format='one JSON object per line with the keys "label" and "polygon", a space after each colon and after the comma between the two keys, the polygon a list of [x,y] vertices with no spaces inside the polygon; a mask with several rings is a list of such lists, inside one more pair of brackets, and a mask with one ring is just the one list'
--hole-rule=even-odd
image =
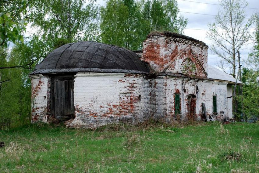
{"label": "raised red-and-white brick block with triangular gable above the roofline", "polygon": [[206,77],[208,46],[203,42],[158,32],[148,35],[143,42],[142,60],[147,62],[154,72]]}

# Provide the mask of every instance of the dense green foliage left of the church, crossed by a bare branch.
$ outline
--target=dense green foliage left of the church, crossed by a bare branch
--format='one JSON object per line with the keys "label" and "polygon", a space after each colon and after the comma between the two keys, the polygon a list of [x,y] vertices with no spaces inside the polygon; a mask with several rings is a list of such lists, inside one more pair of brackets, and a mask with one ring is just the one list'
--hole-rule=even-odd
{"label": "dense green foliage left of the church, crossed by a bare branch", "polygon": [[9,54],[2,48],[1,67],[20,66],[32,61],[34,63],[25,68],[0,70],[0,128],[30,123],[29,73],[46,56],[47,49],[44,48],[44,42],[36,36],[29,42],[18,43]]}

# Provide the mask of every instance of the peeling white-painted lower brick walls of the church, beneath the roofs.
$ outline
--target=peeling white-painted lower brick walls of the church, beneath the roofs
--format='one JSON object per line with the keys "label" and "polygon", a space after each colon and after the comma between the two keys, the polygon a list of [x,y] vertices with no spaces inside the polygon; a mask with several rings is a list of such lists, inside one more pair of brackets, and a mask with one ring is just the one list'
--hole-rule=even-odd
{"label": "peeling white-painted lower brick walls of the church, beneath the roofs", "polygon": [[[50,116],[50,80],[34,75],[32,80],[32,121],[47,122]],[[177,91],[178,90],[178,91]],[[217,96],[217,119],[232,118],[227,103],[227,83],[188,80],[169,76],[149,79],[145,75],[124,73],[77,73],[74,79],[75,119],[68,127],[94,128],[105,124],[143,122],[150,117],[172,121],[174,94],[180,93],[181,120],[187,119],[187,96],[196,96],[196,120],[201,119],[201,103],[213,115],[213,95]],[[231,87],[228,87],[231,92]],[[228,105],[228,106],[227,106]]]}

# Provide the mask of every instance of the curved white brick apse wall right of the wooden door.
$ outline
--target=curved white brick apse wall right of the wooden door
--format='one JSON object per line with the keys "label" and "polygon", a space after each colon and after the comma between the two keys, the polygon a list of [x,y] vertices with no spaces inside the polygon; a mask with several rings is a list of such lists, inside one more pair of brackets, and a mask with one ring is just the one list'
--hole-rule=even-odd
{"label": "curved white brick apse wall right of the wooden door", "polygon": [[[162,115],[157,80],[146,75],[77,73],[74,80],[75,119],[69,127],[98,127],[117,122],[143,122]],[[154,108],[156,107],[156,108]],[[154,111],[155,110],[155,111]]]}

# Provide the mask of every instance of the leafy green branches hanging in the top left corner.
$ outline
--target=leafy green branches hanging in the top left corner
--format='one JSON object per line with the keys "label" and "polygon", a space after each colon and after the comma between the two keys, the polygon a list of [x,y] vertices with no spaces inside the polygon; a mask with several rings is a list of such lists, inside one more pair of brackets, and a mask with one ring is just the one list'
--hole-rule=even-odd
{"label": "leafy green branches hanging in the top left corner", "polygon": [[0,46],[23,40],[22,32],[27,25],[24,15],[31,4],[28,0],[0,1]]}

